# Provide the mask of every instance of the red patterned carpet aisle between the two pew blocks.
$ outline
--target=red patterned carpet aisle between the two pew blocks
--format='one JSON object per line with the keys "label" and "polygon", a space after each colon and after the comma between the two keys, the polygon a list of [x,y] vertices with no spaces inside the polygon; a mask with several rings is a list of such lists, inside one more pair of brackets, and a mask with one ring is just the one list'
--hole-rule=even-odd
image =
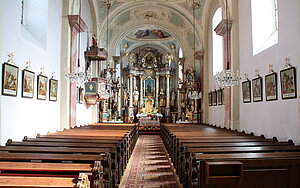
{"label": "red patterned carpet aisle between the two pew blocks", "polygon": [[120,187],[182,187],[159,135],[139,136]]}

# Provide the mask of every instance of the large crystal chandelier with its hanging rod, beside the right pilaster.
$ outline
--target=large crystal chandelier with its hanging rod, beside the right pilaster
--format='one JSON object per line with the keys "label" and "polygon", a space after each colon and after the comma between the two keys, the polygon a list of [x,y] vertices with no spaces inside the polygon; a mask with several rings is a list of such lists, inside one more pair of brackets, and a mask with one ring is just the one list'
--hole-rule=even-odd
{"label": "large crystal chandelier with its hanging rod, beside the right pilaster", "polygon": [[219,72],[216,74],[215,76],[215,81],[216,83],[224,88],[224,87],[233,87],[236,86],[240,83],[241,81],[241,75],[239,73],[239,71],[237,71],[237,73],[235,73],[233,70],[229,69],[229,23],[228,23],[228,4],[227,4],[227,0],[225,1],[225,5],[226,5],[226,30],[227,30],[227,38],[226,38],[226,53],[227,53],[227,66],[226,69],[223,70],[222,72]]}

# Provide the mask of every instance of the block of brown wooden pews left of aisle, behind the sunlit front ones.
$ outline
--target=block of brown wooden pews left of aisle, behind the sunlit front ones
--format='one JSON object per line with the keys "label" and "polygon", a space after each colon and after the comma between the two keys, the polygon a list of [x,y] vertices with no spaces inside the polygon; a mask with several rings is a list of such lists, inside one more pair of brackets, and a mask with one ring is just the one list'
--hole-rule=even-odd
{"label": "block of brown wooden pews left of aisle, behind the sunlit front ones", "polygon": [[[86,127],[86,126],[84,126]],[[124,168],[137,139],[136,127],[126,126],[122,130],[123,137],[117,131],[117,135],[95,135],[101,131],[100,126],[89,132],[82,131],[83,127],[59,131],[61,134],[38,135],[37,138],[24,137],[22,142],[8,140],[7,146],[0,147],[0,161],[15,162],[41,162],[41,164],[87,163],[92,165],[95,161],[101,161],[103,165],[103,181],[97,185],[115,187],[120,181]],[[111,132],[115,132],[113,127]],[[68,132],[68,136],[64,136]],[[92,136],[91,136],[92,135]],[[9,153],[3,153],[9,152]],[[93,185],[93,184],[92,184]],[[97,186],[98,187],[98,186]]]}

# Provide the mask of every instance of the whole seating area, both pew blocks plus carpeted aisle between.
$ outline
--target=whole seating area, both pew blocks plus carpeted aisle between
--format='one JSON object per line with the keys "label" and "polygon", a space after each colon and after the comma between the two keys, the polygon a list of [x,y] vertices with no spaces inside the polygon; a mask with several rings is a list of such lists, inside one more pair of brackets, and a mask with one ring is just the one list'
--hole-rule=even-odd
{"label": "whole seating area, both pew blocks plus carpeted aisle between", "polygon": [[286,187],[300,146],[205,124],[91,124],[0,146],[0,187]]}

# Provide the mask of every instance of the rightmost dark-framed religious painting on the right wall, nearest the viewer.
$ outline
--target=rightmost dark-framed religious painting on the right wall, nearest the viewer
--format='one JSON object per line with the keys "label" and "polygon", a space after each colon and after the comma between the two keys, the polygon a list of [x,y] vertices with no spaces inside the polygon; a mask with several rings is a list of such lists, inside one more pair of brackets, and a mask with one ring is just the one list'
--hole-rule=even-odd
{"label": "rightmost dark-framed religious painting on the right wall, nearest the viewer", "polygon": [[280,71],[280,83],[282,99],[292,99],[297,97],[295,67]]}

